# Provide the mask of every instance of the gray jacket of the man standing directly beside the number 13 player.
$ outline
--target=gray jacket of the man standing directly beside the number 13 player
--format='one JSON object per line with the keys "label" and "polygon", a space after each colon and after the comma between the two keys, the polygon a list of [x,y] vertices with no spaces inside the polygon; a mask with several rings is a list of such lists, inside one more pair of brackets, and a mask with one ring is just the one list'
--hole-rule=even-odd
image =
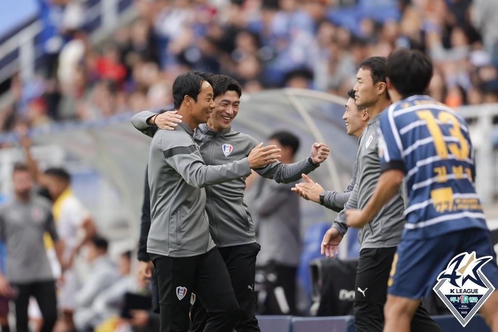
{"label": "gray jacket of the man standing directly beside the number 13 player", "polygon": [[[353,192],[344,210],[339,213],[332,227],[344,236],[347,231],[346,209],[363,209],[373,194],[377,180],[380,177],[380,160],[378,157],[378,139],[374,117],[362,133],[358,148],[358,173]],[[404,201],[402,187],[394,197],[385,204],[373,219],[365,225],[358,234],[363,248],[389,248],[398,245],[404,228]]]}

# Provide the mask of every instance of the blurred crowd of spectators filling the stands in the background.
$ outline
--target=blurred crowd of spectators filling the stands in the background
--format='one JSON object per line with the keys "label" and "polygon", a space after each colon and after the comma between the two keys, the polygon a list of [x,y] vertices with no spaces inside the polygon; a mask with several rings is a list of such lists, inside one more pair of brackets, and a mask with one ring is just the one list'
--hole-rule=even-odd
{"label": "blurred crowd of spectators filling the stands in the background", "polygon": [[90,43],[85,0],[39,0],[43,66],[12,77],[1,131],[19,123],[108,118],[170,105],[188,69],[244,92],[311,88],[346,95],[357,65],[396,47],[434,60],[429,93],[451,107],[498,102],[498,7],[486,0],[134,0],[137,17]]}

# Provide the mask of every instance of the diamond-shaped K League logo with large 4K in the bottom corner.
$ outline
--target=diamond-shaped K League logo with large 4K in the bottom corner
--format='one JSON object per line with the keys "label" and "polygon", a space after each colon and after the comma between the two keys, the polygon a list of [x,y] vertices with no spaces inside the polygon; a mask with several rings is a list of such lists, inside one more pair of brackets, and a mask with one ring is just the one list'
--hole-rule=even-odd
{"label": "diamond-shaped K League logo with large 4K in the bottom corner", "polygon": [[463,327],[495,291],[481,272],[484,264],[492,259],[491,256],[476,258],[475,252],[464,252],[454,257],[437,278],[434,292]]}

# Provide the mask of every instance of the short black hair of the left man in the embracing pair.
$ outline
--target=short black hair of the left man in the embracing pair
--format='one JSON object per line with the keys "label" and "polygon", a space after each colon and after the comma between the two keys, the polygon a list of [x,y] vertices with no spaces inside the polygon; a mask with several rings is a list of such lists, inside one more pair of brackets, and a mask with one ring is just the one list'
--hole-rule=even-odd
{"label": "short black hair of the left man in the embracing pair", "polygon": [[183,97],[185,96],[190,96],[197,102],[197,95],[201,93],[201,86],[204,81],[213,85],[211,74],[199,71],[189,71],[175,78],[172,88],[175,109],[180,108]]}

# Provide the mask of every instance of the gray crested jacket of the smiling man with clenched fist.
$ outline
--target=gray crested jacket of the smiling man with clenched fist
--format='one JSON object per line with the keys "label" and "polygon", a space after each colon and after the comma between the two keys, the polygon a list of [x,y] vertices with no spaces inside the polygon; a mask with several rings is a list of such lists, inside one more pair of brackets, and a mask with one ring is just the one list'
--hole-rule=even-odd
{"label": "gray crested jacket of the smiling man with clenched fist", "polygon": [[[139,112],[131,118],[131,123],[142,133],[152,136],[157,127],[147,125],[146,121],[155,114],[149,111]],[[259,144],[256,139],[231,127],[224,132],[214,132],[206,124],[196,128],[193,138],[200,147],[206,165],[223,165],[247,158],[250,151]],[[307,174],[317,167],[310,164],[308,159],[303,159],[293,164],[269,164],[254,171],[276,182],[290,183],[299,180],[302,173]],[[256,242],[254,224],[244,200],[246,176],[241,175],[205,189],[206,211],[216,245],[228,247]]]}

